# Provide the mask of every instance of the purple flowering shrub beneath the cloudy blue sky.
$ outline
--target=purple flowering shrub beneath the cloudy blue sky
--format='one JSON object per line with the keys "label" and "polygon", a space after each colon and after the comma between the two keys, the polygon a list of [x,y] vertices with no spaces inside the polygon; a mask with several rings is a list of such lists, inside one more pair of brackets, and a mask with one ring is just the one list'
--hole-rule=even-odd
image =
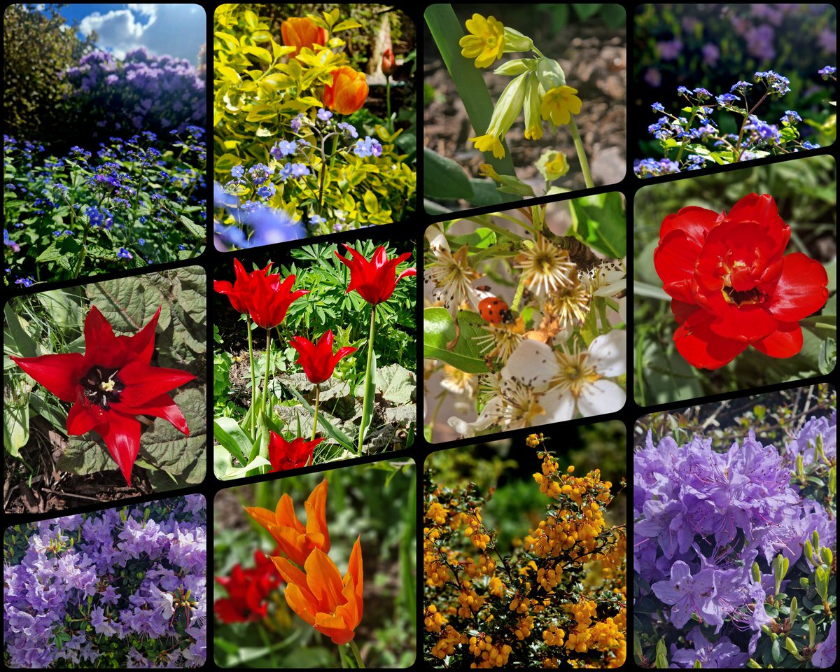
{"label": "purple flowering shrub beneath the cloudy blue sky", "polygon": [[69,102],[78,111],[76,137],[168,134],[207,121],[206,83],[186,59],[139,47],[118,60],[97,50],[62,76],[72,85]]}

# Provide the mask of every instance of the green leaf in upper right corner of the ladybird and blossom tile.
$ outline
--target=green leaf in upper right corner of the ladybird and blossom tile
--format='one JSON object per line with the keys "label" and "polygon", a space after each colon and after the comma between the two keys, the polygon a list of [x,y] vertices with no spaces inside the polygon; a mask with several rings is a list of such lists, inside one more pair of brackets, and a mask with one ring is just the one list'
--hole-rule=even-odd
{"label": "green leaf in upper right corner of the ladybird and blossom tile", "polygon": [[572,199],[570,234],[612,259],[627,254],[624,202],[618,192]]}

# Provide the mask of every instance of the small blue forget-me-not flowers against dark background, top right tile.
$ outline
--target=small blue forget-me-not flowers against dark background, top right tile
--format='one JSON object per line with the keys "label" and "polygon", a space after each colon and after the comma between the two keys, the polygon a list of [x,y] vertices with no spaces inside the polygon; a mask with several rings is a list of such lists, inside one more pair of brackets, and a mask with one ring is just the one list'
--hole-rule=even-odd
{"label": "small blue forget-me-not flowers against dark background, top right tile", "polygon": [[[826,66],[816,74],[823,80],[837,81],[836,72],[836,68]],[[803,139],[809,132],[811,139],[833,142],[833,122],[827,123],[825,128],[810,120],[803,123],[795,110],[785,110],[772,122],[759,118],[757,112],[764,101],[790,92],[790,80],[770,70],[756,72],[753,82],[737,81],[719,95],[704,87],[693,90],[678,87],[680,104],[685,107],[676,113],[670,113],[661,102],[654,102],[651,108],[659,118],[648,126],[648,133],[659,142],[663,158],[633,161],[636,176],[696,171],[710,165],[814,150],[821,145]],[[726,123],[732,123],[732,118],[738,122],[731,132],[727,132],[724,127]],[[821,129],[822,134],[814,135],[811,127]]]}

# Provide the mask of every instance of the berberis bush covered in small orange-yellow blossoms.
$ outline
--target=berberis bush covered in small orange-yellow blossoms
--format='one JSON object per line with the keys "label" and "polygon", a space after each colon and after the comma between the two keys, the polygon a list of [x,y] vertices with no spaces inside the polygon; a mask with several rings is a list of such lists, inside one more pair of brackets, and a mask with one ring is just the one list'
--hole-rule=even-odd
{"label": "berberis bush covered in small orange-yellow blossoms", "polygon": [[[532,434],[528,446],[542,438]],[[448,669],[624,664],[627,536],[624,525],[604,520],[612,483],[599,470],[562,473],[548,451],[538,456],[542,469],[533,479],[552,501],[512,554],[481,521],[488,496],[474,483],[439,486],[427,470],[427,661]]]}

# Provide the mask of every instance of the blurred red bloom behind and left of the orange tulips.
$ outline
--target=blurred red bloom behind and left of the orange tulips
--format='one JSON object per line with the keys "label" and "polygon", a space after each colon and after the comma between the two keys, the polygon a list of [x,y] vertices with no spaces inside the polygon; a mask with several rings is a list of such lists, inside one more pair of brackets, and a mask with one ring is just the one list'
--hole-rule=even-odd
{"label": "blurred red bloom behind and left of the orange tulips", "polygon": [[228,597],[221,597],[213,603],[213,611],[221,622],[261,621],[268,615],[265,600],[271,591],[276,591],[283,579],[275,564],[262,551],[254,552],[254,560],[255,567],[243,570],[241,564],[234,564],[230,576],[216,577],[218,584],[228,591]]}

